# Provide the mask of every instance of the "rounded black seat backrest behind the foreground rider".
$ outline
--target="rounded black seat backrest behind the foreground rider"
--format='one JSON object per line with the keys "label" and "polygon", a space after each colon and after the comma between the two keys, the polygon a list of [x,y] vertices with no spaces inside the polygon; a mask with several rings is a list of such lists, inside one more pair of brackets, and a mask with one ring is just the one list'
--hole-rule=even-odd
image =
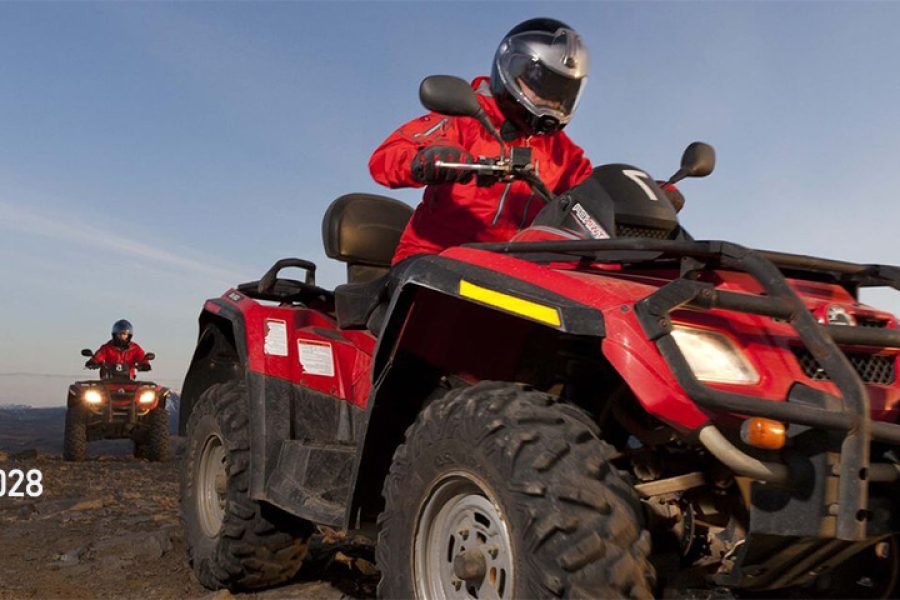
{"label": "rounded black seat backrest behind the foreground rider", "polygon": [[325,254],[347,263],[351,283],[380,277],[413,209],[375,194],[347,194],[331,203],[322,219]]}

